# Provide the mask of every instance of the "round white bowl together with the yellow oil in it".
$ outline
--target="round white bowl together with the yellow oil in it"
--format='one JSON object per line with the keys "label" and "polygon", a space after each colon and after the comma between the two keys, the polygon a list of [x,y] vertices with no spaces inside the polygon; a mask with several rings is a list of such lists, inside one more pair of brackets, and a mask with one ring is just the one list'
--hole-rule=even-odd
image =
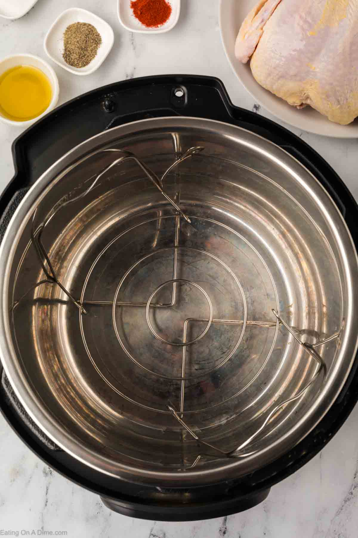
{"label": "round white bowl together with the yellow oil in it", "polygon": [[28,126],[55,108],[59,81],[47,62],[32,54],[0,60],[0,121]]}

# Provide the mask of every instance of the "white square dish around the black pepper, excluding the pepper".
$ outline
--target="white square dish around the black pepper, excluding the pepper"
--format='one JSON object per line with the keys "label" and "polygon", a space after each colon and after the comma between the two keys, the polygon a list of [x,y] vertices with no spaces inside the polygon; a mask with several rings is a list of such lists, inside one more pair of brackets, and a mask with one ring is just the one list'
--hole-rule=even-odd
{"label": "white square dish around the black pepper, excluding the pepper", "polygon": [[[86,67],[72,67],[62,58],[63,53],[63,33],[67,26],[73,23],[89,23],[92,24],[102,38],[102,43],[97,51],[97,55]],[[109,51],[113,47],[114,33],[105,20],[97,17],[91,11],[81,8],[70,8],[63,11],[55,20],[46,34],[43,47],[48,57],[57,63],[57,65],[67,69],[75,75],[90,75],[99,68],[101,63],[107,58]]]}

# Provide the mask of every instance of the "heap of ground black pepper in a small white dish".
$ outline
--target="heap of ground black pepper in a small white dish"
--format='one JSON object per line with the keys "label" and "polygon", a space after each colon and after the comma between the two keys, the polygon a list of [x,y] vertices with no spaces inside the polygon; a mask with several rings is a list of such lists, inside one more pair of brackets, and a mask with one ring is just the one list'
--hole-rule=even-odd
{"label": "heap of ground black pepper in a small white dish", "polygon": [[88,23],[73,23],[63,34],[62,57],[72,67],[86,67],[96,56],[102,38]]}

